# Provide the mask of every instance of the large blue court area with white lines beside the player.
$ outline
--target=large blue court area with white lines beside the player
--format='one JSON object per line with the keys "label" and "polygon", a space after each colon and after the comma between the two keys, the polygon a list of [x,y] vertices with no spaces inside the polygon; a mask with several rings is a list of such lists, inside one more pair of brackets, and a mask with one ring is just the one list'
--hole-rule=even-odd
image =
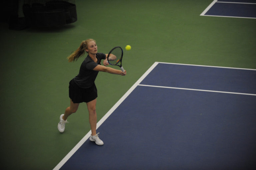
{"label": "large blue court area with white lines beside the player", "polygon": [[55,169],[253,169],[256,70],[154,63]]}

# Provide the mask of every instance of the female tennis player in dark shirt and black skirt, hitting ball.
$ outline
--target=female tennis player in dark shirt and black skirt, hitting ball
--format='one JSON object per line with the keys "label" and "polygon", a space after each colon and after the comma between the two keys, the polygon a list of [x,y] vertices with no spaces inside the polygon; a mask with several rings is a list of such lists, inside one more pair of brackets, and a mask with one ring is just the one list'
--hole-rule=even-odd
{"label": "female tennis player in dark shirt and black skirt, hitting ball", "polygon": [[[88,55],[81,64],[79,74],[69,82],[70,106],[66,108],[64,114],[60,115],[58,129],[60,132],[64,132],[68,116],[77,111],[79,103],[86,102],[92,131],[90,140],[94,141],[97,145],[103,145],[103,141],[100,140],[98,136],[99,133],[96,133],[96,101],[98,95],[94,81],[99,72],[125,76],[126,71],[122,72],[121,70],[106,67],[108,65],[108,54],[98,53],[96,41],[93,39],[82,41],[80,47],[68,57],[68,61],[77,61],[85,52],[88,53]],[[104,60],[104,66],[101,65],[101,60]]]}

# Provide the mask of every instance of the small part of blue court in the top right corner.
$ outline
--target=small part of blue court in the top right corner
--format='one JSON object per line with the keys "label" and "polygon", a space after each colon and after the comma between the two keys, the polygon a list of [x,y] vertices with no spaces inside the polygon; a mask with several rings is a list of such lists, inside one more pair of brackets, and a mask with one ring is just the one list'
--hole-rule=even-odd
{"label": "small part of blue court in the top right corner", "polygon": [[256,0],[214,0],[201,15],[256,18]]}

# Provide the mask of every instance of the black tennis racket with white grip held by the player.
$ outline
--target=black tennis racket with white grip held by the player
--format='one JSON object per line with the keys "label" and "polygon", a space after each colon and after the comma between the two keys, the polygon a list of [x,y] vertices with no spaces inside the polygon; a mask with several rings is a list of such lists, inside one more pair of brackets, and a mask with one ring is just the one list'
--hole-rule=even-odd
{"label": "black tennis racket with white grip held by the player", "polygon": [[108,63],[112,66],[119,66],[122,72],[124,72],[124,68],[122,67],[122,58],[123,58],[123,49],[121,47],[114,47],[108,53]]}

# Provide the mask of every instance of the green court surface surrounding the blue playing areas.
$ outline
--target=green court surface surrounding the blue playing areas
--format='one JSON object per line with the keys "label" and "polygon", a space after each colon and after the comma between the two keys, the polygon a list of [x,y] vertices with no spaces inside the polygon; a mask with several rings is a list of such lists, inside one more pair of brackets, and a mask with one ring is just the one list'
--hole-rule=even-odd
{"label": "green court surface surrounding the blue playing areas", "polygon": [[154,62],[256,69],[256,20],[200,16],[212,0],[75,2],[77,22],[61,28],[14,31],[0,23],[3,169],[53,169],[90,130],[85,103],[63,134],[57,129],[84,59],[66,57],[88,38],[102,53],[132,47],[124,51],[125,77],[96,79],[98,120]]}

